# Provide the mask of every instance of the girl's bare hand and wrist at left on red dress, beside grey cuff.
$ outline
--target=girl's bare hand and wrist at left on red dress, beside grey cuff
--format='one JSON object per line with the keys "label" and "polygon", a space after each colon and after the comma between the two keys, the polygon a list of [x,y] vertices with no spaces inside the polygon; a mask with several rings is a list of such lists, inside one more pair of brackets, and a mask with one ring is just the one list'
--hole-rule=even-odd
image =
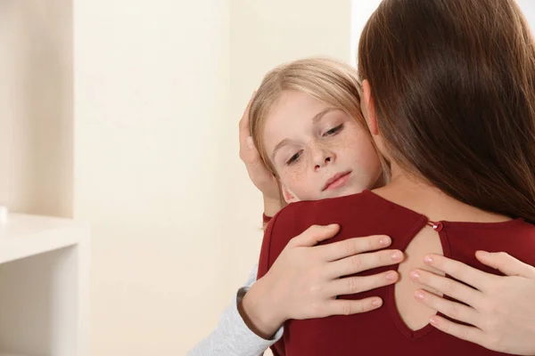
{"label": "girl's bare hand and wrist at left on red dress, beside grey cuff", "polygon": [[249,327],[268,338],[285,320],[350,315],[379,308],[379,297],[336,299],[395,283],[396,271],[373,276],[345,277],[403,261],[387,236],[368,236],[316,246],[339,231],[338,225],[311,226],[292,239],[268,273],[243,297],[241,312]]}

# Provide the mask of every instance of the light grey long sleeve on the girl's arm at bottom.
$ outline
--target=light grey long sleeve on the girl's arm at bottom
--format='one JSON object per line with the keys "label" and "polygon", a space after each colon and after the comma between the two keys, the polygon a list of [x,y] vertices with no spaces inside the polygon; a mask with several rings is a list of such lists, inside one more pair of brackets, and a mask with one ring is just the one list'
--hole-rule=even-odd
{"label": "light grey long sleeve on the girl's arm at bottom", "polygon": [[238,312],[238,303],[256,281],[257,271],[258,264],[252,268],[243,287],[238,289],[233,302],[221,314],[218,326],[196,344],[187,356],[259,356],[283,336],[283,328],[279,328],[270,340],[257,336],[247,327]]}

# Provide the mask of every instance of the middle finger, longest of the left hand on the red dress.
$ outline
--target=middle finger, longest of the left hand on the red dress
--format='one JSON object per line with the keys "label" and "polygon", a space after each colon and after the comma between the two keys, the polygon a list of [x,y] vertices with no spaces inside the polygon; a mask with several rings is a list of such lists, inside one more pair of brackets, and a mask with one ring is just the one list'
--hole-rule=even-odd
{"label": "middle finger, longest of the left hand on the red dress", "polygon": [[361,271],[377,267],[389,266],[403,261],[403,254],[399,250],[377,251],[370,254],[351,255],[342,260],[333,261],[325,267],[329,278],[350,276]]}

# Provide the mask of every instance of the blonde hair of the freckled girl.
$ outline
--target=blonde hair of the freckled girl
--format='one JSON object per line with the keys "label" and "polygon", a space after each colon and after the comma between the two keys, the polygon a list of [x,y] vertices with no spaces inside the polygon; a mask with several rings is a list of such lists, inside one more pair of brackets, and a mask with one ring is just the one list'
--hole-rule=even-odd
{"label": "blonde hair of the freckled girl", "polygon": [[[268,169],[277,175],[264,145],[264,125],[270,110],[276,105],[284,91],[307,93],[319,101],[340,108],[363,125],[369,133],[360,111],[359,88],[357,69],[342,61],[328,58],[292,61],[269,71],[259,86],[249,111],[251,136]],[[371,135],[370,140],[374,142]],[[383,176],[387,177],[388,165],[379,150],[377,152],[382,159]]]}

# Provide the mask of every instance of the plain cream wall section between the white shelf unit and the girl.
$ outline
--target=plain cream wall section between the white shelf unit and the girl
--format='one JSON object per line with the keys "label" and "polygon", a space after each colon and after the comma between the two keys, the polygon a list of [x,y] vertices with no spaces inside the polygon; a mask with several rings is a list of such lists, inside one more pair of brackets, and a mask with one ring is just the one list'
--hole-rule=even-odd
{"label": "plain cream wall section between the white shelf unit and the girl", "polygon": [[75,6],[74,212],[93,224],[95,356],[185,354],[226,303],[229,10]]}

